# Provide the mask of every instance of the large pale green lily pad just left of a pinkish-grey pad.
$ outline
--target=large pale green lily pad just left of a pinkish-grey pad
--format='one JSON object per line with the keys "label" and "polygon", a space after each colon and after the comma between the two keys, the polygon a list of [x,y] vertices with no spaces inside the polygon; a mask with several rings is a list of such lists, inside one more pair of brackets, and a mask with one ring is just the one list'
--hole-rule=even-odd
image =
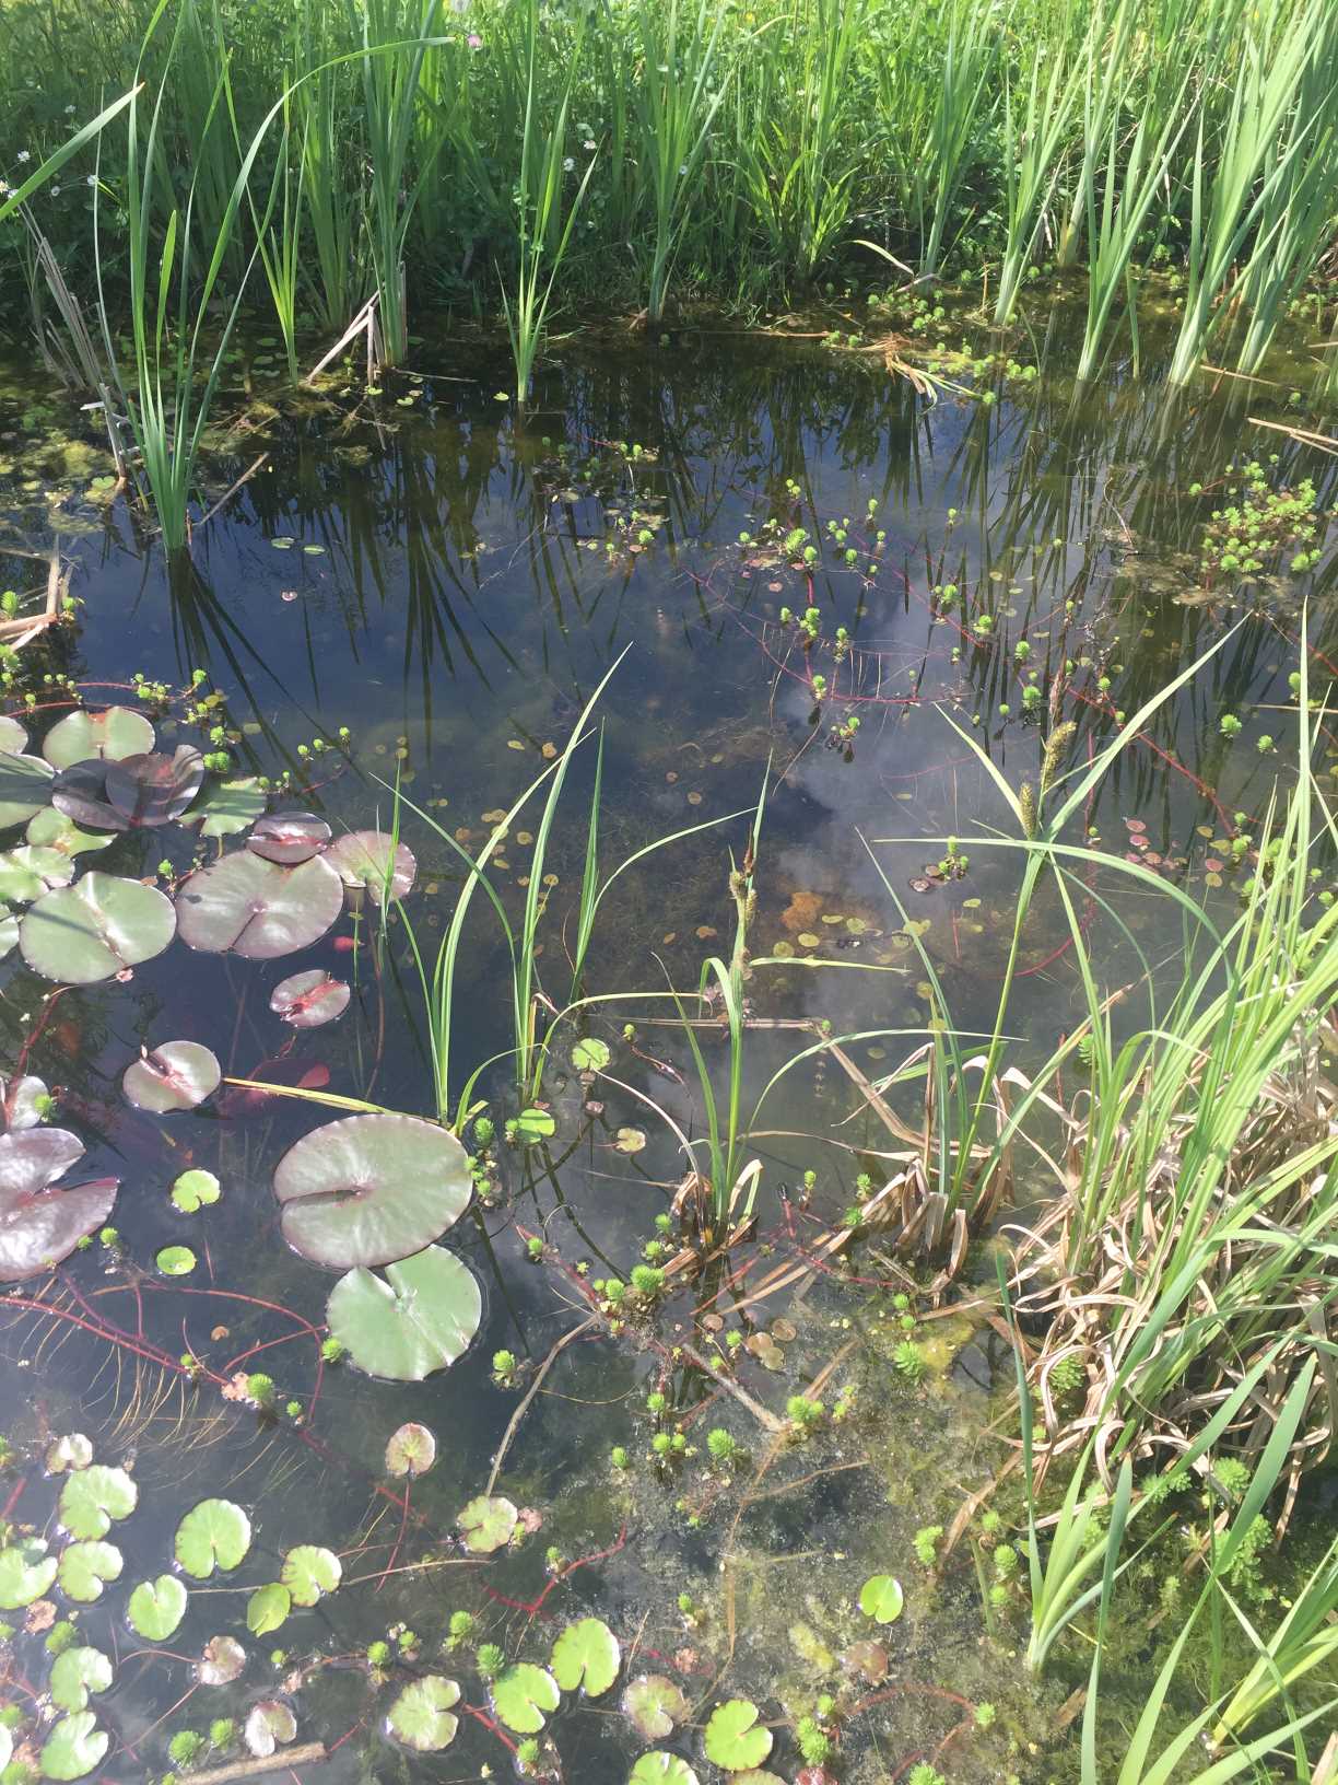
{"label": "large pale green lily pad just left of a pinkish-grey pad", "polygon": [[164,892],[95,869],[39,898],[20,925],[18,946],[45,978],[93,985],[161,955],[175,932]]}

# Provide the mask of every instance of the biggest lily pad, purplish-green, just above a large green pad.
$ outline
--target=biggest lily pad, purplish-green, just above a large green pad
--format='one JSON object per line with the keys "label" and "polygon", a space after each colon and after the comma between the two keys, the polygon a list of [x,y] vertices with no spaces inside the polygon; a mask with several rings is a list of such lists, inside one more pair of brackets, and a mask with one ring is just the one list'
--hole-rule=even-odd
{"label": "biggest lily pad, purplish-green, just above a large green pad", "polygon": [[284,1239],[334,1271],[423,1251],[471,1191],[460,1142],[416,1116],[344,1116],[303,1135],[275,1171]]}

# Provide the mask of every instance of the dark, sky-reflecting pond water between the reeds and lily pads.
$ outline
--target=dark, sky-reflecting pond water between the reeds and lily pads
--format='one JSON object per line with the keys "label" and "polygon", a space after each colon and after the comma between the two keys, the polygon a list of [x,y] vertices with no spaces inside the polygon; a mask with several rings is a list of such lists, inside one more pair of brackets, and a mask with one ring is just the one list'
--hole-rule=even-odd
{"label": "dark, sky-reflecting pond water between the reeds and lily pads", "polygon": [[[1061,766],[1085,764],[1117,716],[1238,627],[1147,719],[1085,810],[1104,850],[1229,910],[1229,839],[1258,823],[1295,759],[1288,678],[1304,600],[1311,673],[1327,677],[1338,639],[1333,553],[1292,569],[1299,544],[1283,530],[1260,575],[1243,578],[1204,544],[1213,509],[1242,484],[1229,468],[1251,457],[1268,491],[1311,478],[1315,511],[1327,511],[1334,461],[1251,419],[1286,421],[1286,386],[1167,409],[1154,380],[1111,377],[1074,393],[1054,369],[1061,359],[1053,352],[1038,378],[1001,373],[988,405],[951,391],[935,403],[878,359],[685,332],[658,348],[569,346],[519,418],[494,396],[501,362],[471,343],[428,337],[416,375],[387,375],[378,398],[335,386],[296,411],[280,405],[277,361],[259,343],[221,405],[218,494],[266,457],[200,532],[189,566],[166,566],[107,487],[87,418],[18,368],[5,375],[0,582],[34,582],[32,560],[11,550],[59,544],[80,603],[70,627],[30,646],[37,671],[73,677],[91,707],[143,705],[164,750],[200,730],[182,698],[137,700],[134,678],[177,691],[203,671],[200,685],[225,700],[230,773],[287,771],[293,787],[275,803],[318,812],[335,834],[389,826],[398,785],[410,801],[400,837],[417,862],[405,910],[425,953],[435,957],[464,885],[450,839],[485,844],[560,760],[601,684],[542,864],[537,967],[557,1007],[571,989],[596,776],[603,875],[687,832],[623,873],[599,909],[587,991],[608,1001],[562,1032],[541,1092],[551,1133],[537,1144],[501,1141],[519,1107],[505,1059],[510,969],[492,912],[475,901],[451,1096],[492,1062],[478,1094],[492,1100],[500,1137],[489,1194],[448,1242],[482,1287],[482,1319],[466,1357],[419,1383],[321,1360],[334,1274],[278,1228],[278,1160],[341,1110],[225,1085],[161,1116],[130,1107],[120,1083],[141,1048],[186,1039],[232,1078],[435,1116],[401,921],[382,944],[375,905],[344,912],[282,960],[177,941],[128,978],[48,1007],[48,982],[18,953],[0,969],[7,1069],[57,1092],[54,1119],[87,1148],[75,1178],[89,1167],[121,1182],[116,1246],[95,1239],[16,1285],[11,1308],[0,1301],[0,1430],[16,1451],[0,1483],[5,1517],[55,1540],[61,1478],[43,1457],[75,1432],[137,1485],[111,1532],[121,1576],[78,1606],[80,1642],[114,1664],[93,1699],[114,1735],[96,1778],[159,1778],[171,1735],[241,1723],[257,1703],[289,1706],[309,1755],[277,1778],[507,1776],[523,1730],[498,1726],[471,1644],[442,1655],[451,1612],[473,1614],[508,1662],[548,1664],[574,1617],[612,1628],[615,1687],[566,1694],[541,1737],[551,1749],[539,1771],[560,1767],[582,1785],[621,1785],[646,1748],[719,1778],[701,1726],[730,1698],[760,1706],[774,1735],[767,1764],[790,1780],[803,1764],[792,1726],[824,1690],[838,1696],[853,1785],[926,1760],[962,1781],[1076,1778],[1081,1649],[1033,1683],[1017,1658],[1024,1614],[990,1605],[969,1544],[937,1573],[915,1557],[915,1533],[951,1526],[1010,1455],[997,1391],[1012,1387],[1012,1358],[972,1292],[994,1280],[992,1260],[972,1250],[956,1287],[935,1294],[935,1273],[890,1257],[876,1233],[847,1258],[826,1257],[822,1235],[856,1175],[878,1180],[888,1135],[815,1042],[822,1023],[860,1035],[847,1048],[856,1073],[888,1073],[924,1042],[929,969],[956,1025],[988,1032],[1019,857],[976,839],[1017,826],[967,739],[1013,789],[1035,785],[1056,726],[1074,721]],[[819,635],[805,648],[812,607]],[[783,609],[796,618],[783,621]],[[68,707],[59,687],[36,684],[30,748]],[[674,1126],[703,1135],[692,1050],[665,992],[689,996],[708,955],[730,957],[730,851],[742,857],[764,787],[749,946],[769,964],[747,982],[746,1108],[790,1057],[814,1053],[778,1083],[744,1155],[762,1160],[756,1230],[653,1319],[614,1333],[591,1321],[551,1358],[510,1433],[555,1342],[591,1319],[591,1282],[628,1278],[655,1242],[685,1171]],[[539,818],[533,800],[496,850],[491,878],[512,921]],[[152,876],[166,862],[169,884],[198,848],[177,825],[130,832],[96,868]],[[1174,975],[1174,905],[1113,880],[1103,891],[1113,907],[1088,914],[1101,976],[1136,978],[1140,951]],[[1078,1017],[1067,937],[1058,900],[1042,894],[1008,1017],[1022,1057]],[[337,1023],[294,1030],[269,996],[309,967],[348,982],[351,1000]],[[580,1034],[608,1048],[598,1082],[571,1064]],[[694,1034],[724,1096],[719,1010]],[[919,1092],[897,1096],[913,1123]],[[189,1214],[169,1196],[187,1169],[221,1187]],[[194,1269],[164,1274],[155,1260],[178,1246]],[[906,1314],[894,1298],[906,1291],[919,1380],[890,1362]],[[510,1380],[492,1369],[503,1349],[517,1360]],[[275,1412],[246,1398],[248,1371],[273,1378]],[[646,1405],[653,1394],[658,1410]],[[828,1417],[805,1442],[781,1444],[776,1426],[796,1394],[821,1399]],[[387,1474],[385,1446],[405,1421],[435,1435],[421,1478]],[[744,1453],[726,1469],[708,1465],[714,1426]],[[657,1432],[681,1433],[689,1451],[658,1457]],[[512,1544],[471,1557],[457,1517],[494,1490],[505,1439],[496,1492],[523,1508],[521,1526]],[[610,1460],[619,1446],[626,1467]],[[127,1624],[128,1592],[173,1569],[173,1532],[209,1498],[248,1514],[250,1551],[235,1571],[187,1580],[180,1624],[146,1640]],[[252,1594],[298,1544],[334,1551],[343,1585],[264,1628]],[[885,1626],[856,1605],[881,1573],[904,1589]],[[59,1585],[52,1599],[64,1619]],[[18,1626],[9,1687],[23,1703],[50,1669],[43,1614],[7,1615]],[[216,1637],[243,1644],[243,1669],[200,1683],[196,1662]],[[382,1640],[392,1655],[375,1669],[368,1646]],[[1138,1703],[1151,1656],[1145,1631],[1126,1630],[1115,1714]],[[639,1674],[685,1694],[687,1721],[657,1742],[619,1710]],[[455,1740],[432,1753],[385,1726],[423,1676],[458,1680],[476,1712],[460,1712]],[[983,1703],[992,1717],[976,1715]],[[237,1753],[200,1764],[225,1767]]]}

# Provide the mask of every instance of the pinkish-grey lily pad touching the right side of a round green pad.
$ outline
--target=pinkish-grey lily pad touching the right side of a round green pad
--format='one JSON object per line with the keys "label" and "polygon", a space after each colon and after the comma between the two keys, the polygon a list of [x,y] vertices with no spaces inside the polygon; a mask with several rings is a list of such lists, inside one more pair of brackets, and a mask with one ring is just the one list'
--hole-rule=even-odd
{"label": "pinkish-grey lily pad touching the right side of a round green pad", "polygon": [[280,868],[234,850],[177,889],[177,925],[189,948],[277,960],[318,942],[344,905],[339,875],[319,855]]}

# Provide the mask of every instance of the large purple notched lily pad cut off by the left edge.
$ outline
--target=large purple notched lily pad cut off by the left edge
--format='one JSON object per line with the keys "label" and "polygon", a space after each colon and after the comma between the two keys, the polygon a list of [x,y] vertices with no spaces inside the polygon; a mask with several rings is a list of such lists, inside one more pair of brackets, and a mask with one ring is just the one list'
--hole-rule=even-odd
{"label": "large purple notched lily pad cut off by the left edge", "polygon": [[105,1225],[116,1178],[55,1185],[82,1155],[84,1142],[66,1128],[0,1135],[0,1282],[16,1283],[59,1264]]}

